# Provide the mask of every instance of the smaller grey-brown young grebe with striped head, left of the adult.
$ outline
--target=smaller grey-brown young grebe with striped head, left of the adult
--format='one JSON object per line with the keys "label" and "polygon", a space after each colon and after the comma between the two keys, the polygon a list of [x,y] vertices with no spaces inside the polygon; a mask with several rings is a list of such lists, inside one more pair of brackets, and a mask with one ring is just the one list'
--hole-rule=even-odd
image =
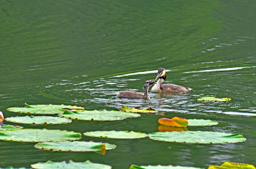
{"label": "smaller grey-brown young grebe with striped head, left of the adult", "polygon": [[119,91],[117,98],[149,99],[149,87],[156,83],[155,81],[145,81],[143,84],[144,94],[136,91]]}

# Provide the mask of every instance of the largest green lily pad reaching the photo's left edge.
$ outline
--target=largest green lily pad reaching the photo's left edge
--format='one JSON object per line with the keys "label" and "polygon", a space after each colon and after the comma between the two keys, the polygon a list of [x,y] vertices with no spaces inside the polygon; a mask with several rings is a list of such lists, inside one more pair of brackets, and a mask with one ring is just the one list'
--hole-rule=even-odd
{"label": "largest green lily pad reaching the photo's left edge", "polygon": [[0,130],[0,140],[21,142],[68,141],[81,139],[81,134],[56,129]]}

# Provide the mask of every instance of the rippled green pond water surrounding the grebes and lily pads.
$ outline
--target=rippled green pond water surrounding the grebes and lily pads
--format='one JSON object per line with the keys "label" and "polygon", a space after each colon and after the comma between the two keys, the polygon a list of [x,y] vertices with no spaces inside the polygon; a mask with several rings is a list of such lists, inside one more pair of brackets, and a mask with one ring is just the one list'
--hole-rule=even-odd
{"label": "rippled green pond water surrounding the grebes and lily pads", "polygon": [[[256,165],[256,1],[4,1],[0,0],[0,111],[29,104],[66,104],[86,110],[154,107],[161,115],[115,122],[73,121],[24,128],[157,132],[161,117],[210,119],[191,131],[242,134],[237,144],[178,144],[144,139],[97,139],[117,148],[98,153],[41,151],[33,143],[0,141],[0,167],[29,168],[51,161],[90,160],[112,168],[183,165],[208,168],[225,161]],[[165,83],[190,93],[149,93],[120,100],[118,91],[143,91],[159,67]],[[203,96],[230,102],[202,103]],[[4,124],[12,124],[4,122]]]}

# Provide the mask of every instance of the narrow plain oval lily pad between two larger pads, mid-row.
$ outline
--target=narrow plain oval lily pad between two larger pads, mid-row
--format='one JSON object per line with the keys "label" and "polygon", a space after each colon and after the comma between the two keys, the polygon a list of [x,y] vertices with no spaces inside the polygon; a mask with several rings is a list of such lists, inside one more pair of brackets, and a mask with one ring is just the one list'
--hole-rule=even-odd
{"label": "narrow plain oval lily pad between two larger pads, mid-row", "polygon": [[100,138],[110,139],[140,139],[147,136],[142,132],[128,132],[128,131],[96,131],[96,132],[85,132],[85,136],[94,136]]}

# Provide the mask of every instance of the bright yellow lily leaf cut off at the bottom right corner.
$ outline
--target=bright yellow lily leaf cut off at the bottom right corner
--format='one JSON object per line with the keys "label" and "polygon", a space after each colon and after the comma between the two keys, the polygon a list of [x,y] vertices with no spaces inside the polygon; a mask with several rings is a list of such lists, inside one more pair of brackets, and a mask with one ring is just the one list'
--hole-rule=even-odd
{"label": "bright yellow lily leaf cut off at the bottom right corner", "polygon": [[254,165],[251,164],[245,164],[245,163],[231,163],[231,162],[225,162],[222,165],[211,165],[208,167],[208,169],[227,169],[227,168],[233,168],[233,169],[255,169]]}

